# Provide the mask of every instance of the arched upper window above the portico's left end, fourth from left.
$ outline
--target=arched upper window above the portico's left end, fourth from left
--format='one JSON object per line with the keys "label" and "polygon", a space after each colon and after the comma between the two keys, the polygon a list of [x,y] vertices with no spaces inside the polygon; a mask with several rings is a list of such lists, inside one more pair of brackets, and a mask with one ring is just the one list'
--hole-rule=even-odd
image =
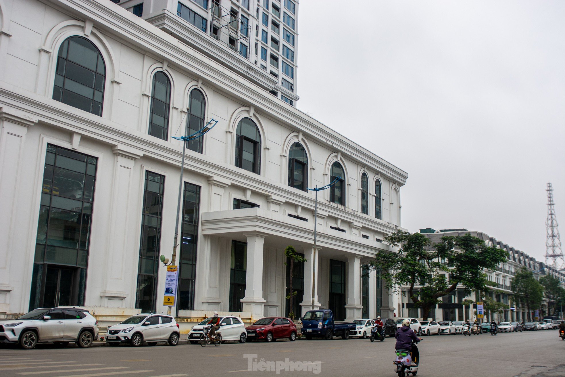
{"label": "arched upper window above the portico's left end, fourth from left", "polygon": [[253,120],[244,118],[237,124],[236,166],[260,174],[261,135]]}

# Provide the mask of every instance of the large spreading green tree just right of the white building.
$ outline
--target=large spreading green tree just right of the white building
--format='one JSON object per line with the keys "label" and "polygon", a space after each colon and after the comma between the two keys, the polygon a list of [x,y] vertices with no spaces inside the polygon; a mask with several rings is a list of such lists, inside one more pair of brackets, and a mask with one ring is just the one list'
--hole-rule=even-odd
{"label": "large spreading green tree just right of the white building", "polygon": [[[424,319],[431,307],[458,284],[470,290],[486,290],[484,268],[494,269],[506,259],[504,250],[486,246],[483,240],[469,234],[444,236],[432,250],[428,250],[428,237],[421,233],[396,231],[384,239],[398,246],[398,253],[377,252],[375,260],[368,264],[383,271],[387,288],[408,285],[408,297],[421,307]],[[415,285],[421,285],[418,292]]]}

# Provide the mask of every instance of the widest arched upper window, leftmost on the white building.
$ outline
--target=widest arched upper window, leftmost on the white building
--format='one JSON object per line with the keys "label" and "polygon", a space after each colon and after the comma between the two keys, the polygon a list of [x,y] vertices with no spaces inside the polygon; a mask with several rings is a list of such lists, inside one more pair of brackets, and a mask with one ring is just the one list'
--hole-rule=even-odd
{"label": "widest arched upper window, leftmost on the white building", "polygon": [[69,37],[59,47],[53,99],[102,115],[106,66],[100,51],[83,37]]}

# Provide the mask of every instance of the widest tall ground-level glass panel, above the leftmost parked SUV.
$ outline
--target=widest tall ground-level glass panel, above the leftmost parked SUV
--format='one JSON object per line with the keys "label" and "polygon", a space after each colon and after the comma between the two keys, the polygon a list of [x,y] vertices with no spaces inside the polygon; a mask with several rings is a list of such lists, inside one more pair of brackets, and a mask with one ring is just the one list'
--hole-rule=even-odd
{"label": "widest tall ground-level glass panel, above the leftmost parked SUV", "polygon": [[84,305],[97,162],[47,145],[30,310]]}

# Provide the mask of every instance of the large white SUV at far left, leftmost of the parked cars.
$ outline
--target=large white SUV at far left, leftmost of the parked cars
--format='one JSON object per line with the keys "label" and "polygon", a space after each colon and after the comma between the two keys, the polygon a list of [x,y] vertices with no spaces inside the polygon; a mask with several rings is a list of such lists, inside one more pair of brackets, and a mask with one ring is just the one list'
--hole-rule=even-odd
{"label": "large white SUV at far left, leftmost of the parked cars", "polygon": [[98,339],[96,318],[78,307],[42,307],[18,319],[0,321],[0,342],[19,343],[32,349],[37,343],[67,345],[76,343],[88,348]]}

